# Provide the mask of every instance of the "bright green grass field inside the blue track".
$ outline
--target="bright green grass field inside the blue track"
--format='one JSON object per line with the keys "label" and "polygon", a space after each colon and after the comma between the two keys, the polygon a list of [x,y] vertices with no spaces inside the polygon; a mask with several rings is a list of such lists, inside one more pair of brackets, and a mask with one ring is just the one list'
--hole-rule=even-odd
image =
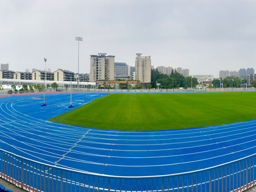
{"label": "bright green grass field inside the blue track", "polygon": [[256,119],[256,92],[108,94],[49,119],[112,130],[166,130]]}

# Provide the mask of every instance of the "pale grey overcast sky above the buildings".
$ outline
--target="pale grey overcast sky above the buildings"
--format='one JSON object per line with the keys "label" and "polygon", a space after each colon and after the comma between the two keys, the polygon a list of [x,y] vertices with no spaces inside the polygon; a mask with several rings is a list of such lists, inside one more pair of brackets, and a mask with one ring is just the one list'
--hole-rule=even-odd
{"label": "pale grey overcast sky above the buildings", "polygon": [[[0,0],[0,63],[13,71],[68,69],[90,73],[90,55],[115,62],[182,67],[191,74],[254,68],[256,1]],[[256,71],[256,70],[255,70]]]}

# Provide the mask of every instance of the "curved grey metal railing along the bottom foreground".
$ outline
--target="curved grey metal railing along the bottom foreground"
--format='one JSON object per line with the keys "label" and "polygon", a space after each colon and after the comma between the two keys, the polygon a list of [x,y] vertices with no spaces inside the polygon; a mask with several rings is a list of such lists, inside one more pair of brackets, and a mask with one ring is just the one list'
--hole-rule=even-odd
{"label": "curved grey metal railing along the bottom foreground", "polygon": [[1,151],[1,177],[27,191],[244,191],[255,185],[254,155],[179,174],[119,177],[36,162]]}

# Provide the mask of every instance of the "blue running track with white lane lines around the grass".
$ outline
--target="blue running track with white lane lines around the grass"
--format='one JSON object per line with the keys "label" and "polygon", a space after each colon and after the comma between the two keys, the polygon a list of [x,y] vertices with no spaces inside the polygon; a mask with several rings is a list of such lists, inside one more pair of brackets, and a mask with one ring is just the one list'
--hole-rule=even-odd
{"label": "blue running track with white lane lines around the grass", "polygon": [[[73,108],[105,94],[73,93]],[[52,166],[110,176],[196,171],[256,153],[255,120],[183,130],[100,130],[47,121],[73,108],[68,108],[68,93],[45,96],[45,107],[43,94],[0,98],[1,149]]]}

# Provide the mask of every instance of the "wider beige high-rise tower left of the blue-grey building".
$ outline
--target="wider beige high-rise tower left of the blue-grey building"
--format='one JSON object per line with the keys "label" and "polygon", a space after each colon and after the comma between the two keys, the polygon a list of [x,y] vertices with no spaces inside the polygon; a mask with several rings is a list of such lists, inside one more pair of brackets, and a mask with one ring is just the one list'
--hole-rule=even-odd
{"label": "wider beige high-rise tower left of the blue-grey building", "polygon": [[90,56],[90,82],[115,80],[115,56],[105,53]]}

